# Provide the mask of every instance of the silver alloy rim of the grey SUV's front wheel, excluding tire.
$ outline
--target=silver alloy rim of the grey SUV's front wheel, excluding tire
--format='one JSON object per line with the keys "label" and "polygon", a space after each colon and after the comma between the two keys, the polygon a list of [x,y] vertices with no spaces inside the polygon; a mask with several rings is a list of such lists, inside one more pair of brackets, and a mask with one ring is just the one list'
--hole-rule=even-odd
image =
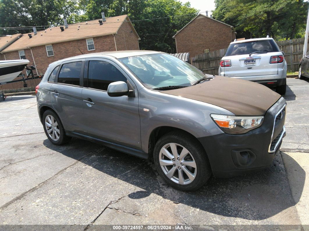
{"label": "silver alloy rim of the grey SUV's front wheel, excluding tire", "polygon": [[196,177],[195,160],[180,144],[165,144],[159,153],[159,163],[164,174],[177,184],[190,184]]}

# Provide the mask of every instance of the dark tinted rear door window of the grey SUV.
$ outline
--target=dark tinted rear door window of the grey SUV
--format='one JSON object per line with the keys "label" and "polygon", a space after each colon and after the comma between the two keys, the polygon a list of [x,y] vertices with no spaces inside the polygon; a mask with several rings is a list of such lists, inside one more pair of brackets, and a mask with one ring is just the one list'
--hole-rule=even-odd
{"label": "dark tinted rear door window of the grey SUV", "polygon": [[82,62],[63,64],[58,76],[58,83],[72,84],[79,86],[79,76]]}

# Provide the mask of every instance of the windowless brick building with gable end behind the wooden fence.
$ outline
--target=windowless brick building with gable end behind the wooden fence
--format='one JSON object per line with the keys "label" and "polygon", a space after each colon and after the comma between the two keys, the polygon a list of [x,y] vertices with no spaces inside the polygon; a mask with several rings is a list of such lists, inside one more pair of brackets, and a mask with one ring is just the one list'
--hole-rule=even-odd
{"label": "windowless brick building with gable end behind the wooden fence", "polygon": [[235,39],[234,28],[226,23],[198,14],[173,38],[177,53],[190,53],[190,58],[204,52],[227,48]]}

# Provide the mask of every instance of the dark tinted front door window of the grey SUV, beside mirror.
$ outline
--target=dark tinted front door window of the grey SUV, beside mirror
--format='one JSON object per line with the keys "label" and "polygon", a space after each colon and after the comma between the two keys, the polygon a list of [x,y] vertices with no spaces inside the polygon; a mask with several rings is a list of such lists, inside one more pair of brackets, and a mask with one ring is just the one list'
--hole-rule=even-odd
{"label": "dark tinted front door window of the grey SUV, beside mirror", "polygon": [[88,87],[107,91],[110,83],[127,82],[127,78],[112,64],[104,61],[89,61]]}

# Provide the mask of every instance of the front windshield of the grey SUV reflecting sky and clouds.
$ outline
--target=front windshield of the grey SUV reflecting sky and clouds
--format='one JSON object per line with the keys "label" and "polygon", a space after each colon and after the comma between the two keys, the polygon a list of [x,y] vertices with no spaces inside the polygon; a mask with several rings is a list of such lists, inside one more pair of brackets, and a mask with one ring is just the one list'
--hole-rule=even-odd
{"label": "front windshield of the grey SUV reflecting sky and clouds", "polygon": [[119,60],[149,89],[191,86],[206,77],[203,72],[169,54],[132,56]]}

